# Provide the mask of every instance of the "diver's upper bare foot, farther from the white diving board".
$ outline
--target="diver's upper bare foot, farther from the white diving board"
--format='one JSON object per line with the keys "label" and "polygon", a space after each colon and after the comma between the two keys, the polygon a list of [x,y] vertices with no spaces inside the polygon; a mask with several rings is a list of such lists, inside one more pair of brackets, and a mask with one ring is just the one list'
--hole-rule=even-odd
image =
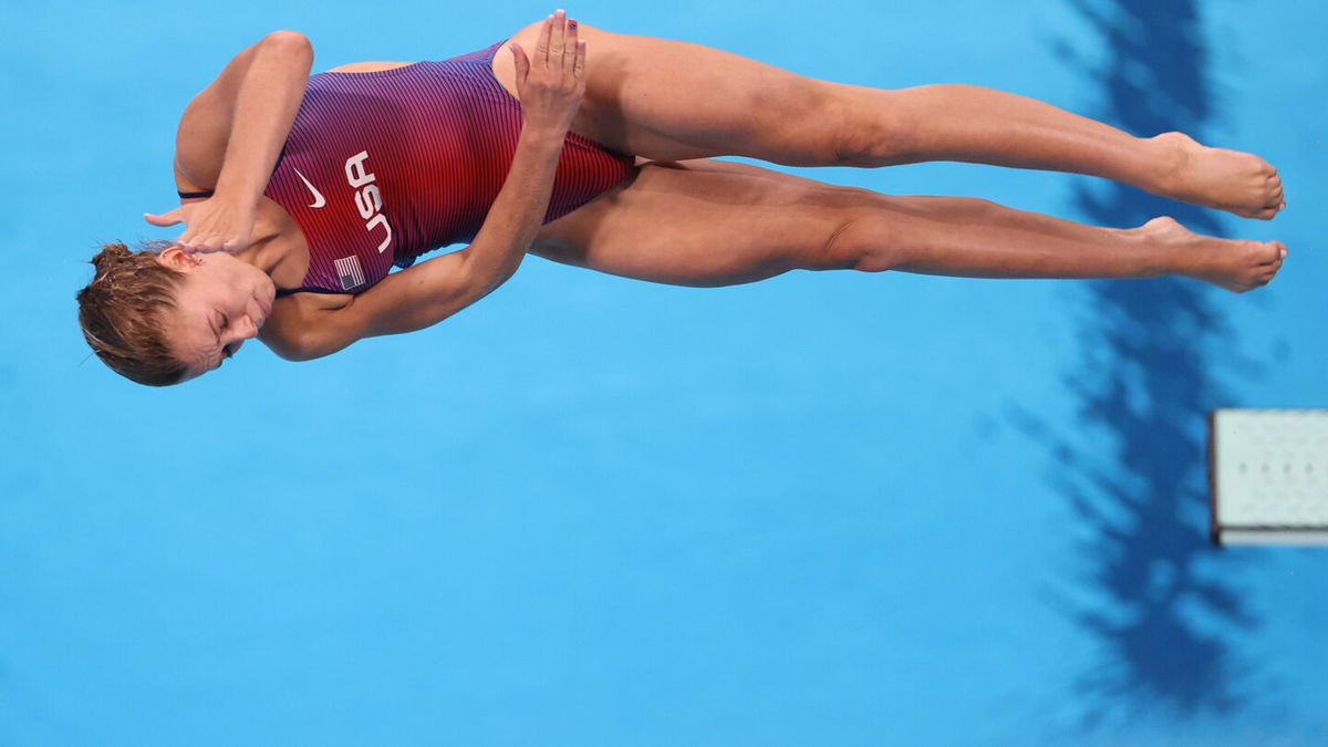
{"label": "diver's upper bare foot, farther from the white diving board", "polygon": [[1171,149],[1175,163],[1165,197],[1264,221],[1286,206],[1278,170],[1252,153],[1199,145],[1185,133],[1151,140]]}

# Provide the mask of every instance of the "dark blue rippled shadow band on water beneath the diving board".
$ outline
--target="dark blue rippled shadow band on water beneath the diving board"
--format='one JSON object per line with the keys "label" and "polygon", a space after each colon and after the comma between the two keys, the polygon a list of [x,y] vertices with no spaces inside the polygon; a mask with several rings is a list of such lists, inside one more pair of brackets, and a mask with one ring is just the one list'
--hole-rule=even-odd
{"label": "dark blue rippled shadow band on water beneath the diving board", "polygon": [[[1086,112],[1133,134],[1190,133],[1214,117],[1207,48],[1193,0],[1072,0],[1106,52],[1057,52],[1100,96]],[[1121,185],[1074,194],[1080,218],[1138,226],[1173,215],[1219,234],[1212,214]],[[1220,716],[1247,707],[1256,673],[1228,643],[1259,625],[1223,570],[1236,558],[1207,544],[1204,415],[1230,404],[1212,370],[1230,344],[1212,292],[1195,282],[1086,286],[1081,363],[1065,381],[1080,403],[1074,432],[1049,432],[1053,484],[1073,508],[1078,569],[1052,603],[1101,646],[1073,683],[1078,727]]]}

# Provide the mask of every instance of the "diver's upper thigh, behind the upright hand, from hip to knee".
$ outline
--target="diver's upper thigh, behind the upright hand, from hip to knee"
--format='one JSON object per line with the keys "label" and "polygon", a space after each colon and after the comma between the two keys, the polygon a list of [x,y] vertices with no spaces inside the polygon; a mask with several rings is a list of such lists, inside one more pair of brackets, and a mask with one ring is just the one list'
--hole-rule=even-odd
{"label": "diver's upper thigh, behind the upright hand, from hip to knee", "polygon": [[[540,23],[513,39],[533,53]],[[722,49],[578,25],[586,97],[572,132],[659,161],[746,156],[791,166],[841,160],[853,102],[871,89],[819,81]],[[509,44],[494,76],[517,96]]]}

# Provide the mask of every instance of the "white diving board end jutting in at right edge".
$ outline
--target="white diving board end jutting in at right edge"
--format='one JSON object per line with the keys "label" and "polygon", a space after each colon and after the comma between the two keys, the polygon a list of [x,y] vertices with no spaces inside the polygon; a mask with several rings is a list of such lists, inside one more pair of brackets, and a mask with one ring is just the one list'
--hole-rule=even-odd
{"label": "white diving board end jutting in at right edge", "polygon": [[1328,546],[1328,409],[1215,409],[1208,482],[1215,544]]}

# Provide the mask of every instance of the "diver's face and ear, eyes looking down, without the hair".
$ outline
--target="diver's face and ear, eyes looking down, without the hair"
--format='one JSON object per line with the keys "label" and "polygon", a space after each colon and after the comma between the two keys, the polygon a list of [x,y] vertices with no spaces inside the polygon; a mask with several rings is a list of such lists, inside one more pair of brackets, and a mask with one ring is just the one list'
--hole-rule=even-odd
{"label": "diver's face and ear, eyes looking down, without the hair", "polygon": [[185,379],[218,368],[244,340],[256,336],[276,298],[276,286],[258,267],[226,253],[185,254],[170,247],[158,262],[185,272],[175,295],[169,344],[189,367]]}

